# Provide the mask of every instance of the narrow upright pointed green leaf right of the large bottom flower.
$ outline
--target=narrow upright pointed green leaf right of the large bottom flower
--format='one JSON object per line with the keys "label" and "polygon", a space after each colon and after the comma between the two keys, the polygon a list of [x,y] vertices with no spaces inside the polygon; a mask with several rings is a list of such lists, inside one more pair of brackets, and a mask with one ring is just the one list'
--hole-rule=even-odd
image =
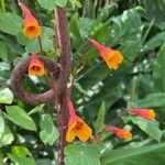
{"label": "narrow upright pointed green leaf right of the large bottom flower", "polygon": [[98,132],[105,127],[105,116],[106,116],[106,105],[102,102],[100,110],[98,112],[97,120],[95,122],[95,129]]}

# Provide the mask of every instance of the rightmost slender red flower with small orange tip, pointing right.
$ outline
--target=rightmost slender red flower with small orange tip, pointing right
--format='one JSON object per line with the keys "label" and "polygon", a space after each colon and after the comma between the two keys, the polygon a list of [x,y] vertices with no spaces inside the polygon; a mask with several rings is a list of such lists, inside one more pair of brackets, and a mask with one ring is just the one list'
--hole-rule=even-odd
{"label": "rightmost slender red flower with small orange tip, pointing right", "polygon": [[155,119],[156,114],[153,109],[133,109],[133,108],[128,108],[127,109],[130,113],[140,116],[144,119],[147,120],[153,120]]}

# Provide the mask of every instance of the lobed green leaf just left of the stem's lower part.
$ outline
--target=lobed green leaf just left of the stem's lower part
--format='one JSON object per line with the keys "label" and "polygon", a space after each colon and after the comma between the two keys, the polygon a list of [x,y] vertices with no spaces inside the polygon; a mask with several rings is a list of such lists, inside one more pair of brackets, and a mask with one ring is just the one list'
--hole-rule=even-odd
{"label": "lobed green leaf just left of the stem's lower part", "polygon": [[45,144],[53,145],[54,142],[58,139],[59,133],[55,128],[53,120],[50,114],[42,117],[40,121],[41,132],[40,138]]}

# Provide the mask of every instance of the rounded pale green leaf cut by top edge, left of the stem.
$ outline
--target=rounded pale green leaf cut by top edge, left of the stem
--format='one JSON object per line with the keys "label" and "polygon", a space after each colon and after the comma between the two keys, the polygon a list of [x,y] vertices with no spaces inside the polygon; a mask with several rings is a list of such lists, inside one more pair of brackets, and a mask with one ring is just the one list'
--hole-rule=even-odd
{"label": "rounded pale green leaf cut by top edge, left of the stem", "polygon": [[50,11],[52,11],[56,6],[55,0],[44,0],[44,1],[43,0],[37,0],[37,2],[42,8],[46,9],[46,10],[50,10]]}

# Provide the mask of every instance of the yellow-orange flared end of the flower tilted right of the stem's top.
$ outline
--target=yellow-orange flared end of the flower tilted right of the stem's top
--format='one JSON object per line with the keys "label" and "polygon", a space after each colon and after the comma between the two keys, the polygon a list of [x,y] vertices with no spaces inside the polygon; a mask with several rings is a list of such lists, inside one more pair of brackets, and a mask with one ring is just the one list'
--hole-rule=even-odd
{"label": "yellow-orange flared end of the flower tilted right of the stem's top", "polygon": [[123,56],[119,51],[109,50],[107,52],[102,52],[101,57],[111,69],[118,69],[119,64],[123,62]]}

